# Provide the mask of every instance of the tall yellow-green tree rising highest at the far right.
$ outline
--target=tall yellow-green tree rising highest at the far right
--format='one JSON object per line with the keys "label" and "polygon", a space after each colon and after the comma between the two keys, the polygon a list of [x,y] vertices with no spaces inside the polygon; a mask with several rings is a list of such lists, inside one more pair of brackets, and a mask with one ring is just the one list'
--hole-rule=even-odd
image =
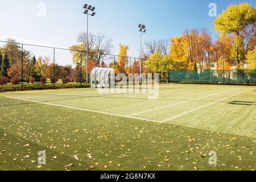
{"label": "tall yellow-green tree rising highest at the far right", "polygon": [[236,36],[234,42],[237,63],[244,58],[247,46],[251,42],[251,36],[255,31],[256,9],[249,3],[241,3],[240,5],[230,5],[226,11],[218,15],[214,22],[216,31],[221,33],[221,36],[233,34]]}

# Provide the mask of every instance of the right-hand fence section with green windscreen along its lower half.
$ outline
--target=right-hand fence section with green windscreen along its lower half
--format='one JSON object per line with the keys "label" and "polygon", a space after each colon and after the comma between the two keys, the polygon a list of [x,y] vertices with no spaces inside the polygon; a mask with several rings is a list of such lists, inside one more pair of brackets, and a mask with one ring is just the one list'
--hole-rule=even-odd
{"label": "right-hand fence section with green windscreen along its lower half", "polygon": [[256,83],[256,70],[250,68],[254,60],[202,61],[200,68],[180,64],[169,72],[169,82]]}

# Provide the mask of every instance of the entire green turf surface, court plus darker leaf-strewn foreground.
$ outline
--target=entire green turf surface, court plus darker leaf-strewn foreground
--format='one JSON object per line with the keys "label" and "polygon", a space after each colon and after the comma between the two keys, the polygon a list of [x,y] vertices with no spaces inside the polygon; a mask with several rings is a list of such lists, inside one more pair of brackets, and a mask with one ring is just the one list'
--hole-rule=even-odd
{"label": "entire green turf surface, court plus darker leaf-strewn foreground", "polygon": [[0,170],[255,170],[255,91],[166,84],[158,100],[88,88],[2,93]]}

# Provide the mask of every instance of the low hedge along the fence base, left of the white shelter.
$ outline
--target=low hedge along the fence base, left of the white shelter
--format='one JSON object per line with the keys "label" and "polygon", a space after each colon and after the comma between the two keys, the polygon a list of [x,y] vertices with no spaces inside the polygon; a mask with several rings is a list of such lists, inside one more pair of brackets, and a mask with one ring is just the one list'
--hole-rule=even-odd
{"label": "low hedge along the fence base, left of the white shelter", "polygon": [[[90,84],[68,83],[68,84],[55,84],[55,89],[71,89],[71,88],[89,88]],[[53,89],[53,84],[31,84],[23,85],[23,90],[50,90]],[[0,92],[14,92],[21,91],[22,86],[19,85],[0,85]]]}

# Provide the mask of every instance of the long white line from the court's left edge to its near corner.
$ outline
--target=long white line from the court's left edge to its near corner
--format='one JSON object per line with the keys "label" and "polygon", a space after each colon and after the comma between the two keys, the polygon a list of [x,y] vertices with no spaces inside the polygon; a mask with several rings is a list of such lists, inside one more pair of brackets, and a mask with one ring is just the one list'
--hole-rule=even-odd
{"label": "long white line from the court's left edge to its near corner", "polygon": [[27,101],[27,102],[34,102],[34,103],[38,103],[38,104],[45,104],[45,105],[50,105],[50,106],[56,106],[56,107],[64,107],[64,108],[68,108],[68,109],[75,109],[75,110],[82,110],[82,111],[88,111],[91,113],[98,113],[98,114],[105,114],[105,115],[113,115],[113,116],[117,116],[117,117],[123,117],[123,118],[130,118],[130,119],[138,119],[138,120],[142,120],[142,121],[149,121],[149,122],[156,122],[159,123],[160,121],[154,121],[151,119],[143,119],[143,118],[136,118],[136,117],[128,117],[126,115],[119,115],[119,114],[112,114],[112,113],[104,113],[101,111],[95,111],[95,110],[88,110],[88,109],[81,109],[81,108],[77,108],[77,107],[69,107],[69,106],[63,106],[63,105],[57,105],[57,104],[49,104],[47,102],[38,102],[38,101],[31,101],[31,100],[25,100],[22,98],[14,98],[14,97],[7,97],[6,98],[12,98],[15,100],[20,100],[20,101]]}

